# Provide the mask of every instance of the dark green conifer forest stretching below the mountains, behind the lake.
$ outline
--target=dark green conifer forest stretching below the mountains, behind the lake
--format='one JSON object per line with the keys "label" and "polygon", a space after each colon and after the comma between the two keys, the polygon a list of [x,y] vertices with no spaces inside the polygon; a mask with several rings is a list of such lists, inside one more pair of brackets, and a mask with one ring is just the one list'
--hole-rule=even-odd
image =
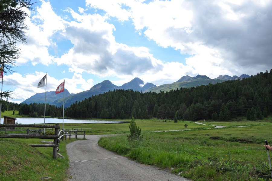
{"label": "dark green conifer forest stretching below the mountains, behind the lake", "polygon": [[[46,116],[62,117],[62,107],[47,104]],[[261,120],[272,113],[272,69],[250,78],[180,88],[169,92],[142,93],[114,90],[75,102],[64,110],[70,118]],[[19,114],[44,114],[44,104],[19,104]]]}

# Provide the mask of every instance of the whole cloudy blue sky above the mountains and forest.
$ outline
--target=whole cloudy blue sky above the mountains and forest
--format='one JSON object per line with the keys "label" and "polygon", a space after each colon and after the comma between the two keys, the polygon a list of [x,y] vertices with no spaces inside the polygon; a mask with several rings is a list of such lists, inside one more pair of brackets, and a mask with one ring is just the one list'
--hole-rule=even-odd
{"label": "whole cloudy blue sky above the mountains and forest", "polygon": [[[270,0],[32,0],[27,39],[2,91],[21,103],[65,80],[70,93],[139,77],[256,75],[272,68]],[[37,88],[47,74],[46,87]]]}

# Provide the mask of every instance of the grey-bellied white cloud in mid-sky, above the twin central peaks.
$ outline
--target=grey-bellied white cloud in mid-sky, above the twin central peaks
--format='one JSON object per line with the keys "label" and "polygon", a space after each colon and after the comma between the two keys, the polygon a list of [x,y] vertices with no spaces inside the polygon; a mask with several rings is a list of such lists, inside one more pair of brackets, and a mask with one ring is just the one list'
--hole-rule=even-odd
{"label": "grey-bellied white cloud in mid-sky, above the twin central peaks", "polygon": [[76,21],[66,22],[63,36],[73,47],[55,62],[70,66],[70,72],[95,74],[99,77],[143,74],[160,68],[144,47],[116,43],[115,29],[101,15],[79,15],[70,9]]}

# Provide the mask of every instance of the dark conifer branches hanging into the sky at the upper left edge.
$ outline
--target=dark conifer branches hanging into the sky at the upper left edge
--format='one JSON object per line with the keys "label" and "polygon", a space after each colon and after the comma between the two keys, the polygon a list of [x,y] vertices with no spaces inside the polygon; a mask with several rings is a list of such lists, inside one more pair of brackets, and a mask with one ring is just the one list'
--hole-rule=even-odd
{"label": "dark conifer branches hanging into the sky at the upper left edge", "polygon": [[[25,21],[29,18],[31,0],[1,0],[0,1],[0,71],[14,72],[15,61],[20,56],[17,42],[25,43]],[[1,93],[2,97],[11,98],[11,91]]]}

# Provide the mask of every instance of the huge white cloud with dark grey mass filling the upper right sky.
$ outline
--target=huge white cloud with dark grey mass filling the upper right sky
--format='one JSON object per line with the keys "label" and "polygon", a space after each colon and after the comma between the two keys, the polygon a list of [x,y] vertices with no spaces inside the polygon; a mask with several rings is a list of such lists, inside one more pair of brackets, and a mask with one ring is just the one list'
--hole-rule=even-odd
{"label": "huge white cloud with dark grey mass filling the upper right sky", "polygon": [[[162,47],[191,55],[187,62],[199,74],[205,74],[204,70],[211,77],[222,73],[256,74],[272,66],[270,1],[130,0],[112,1],[110,7],[118,7],[113,9],[100,0],[86,4],[120,21],[131,18],[140,34],[143,32]],[[121,16],[123,5],[128,8]]]}

